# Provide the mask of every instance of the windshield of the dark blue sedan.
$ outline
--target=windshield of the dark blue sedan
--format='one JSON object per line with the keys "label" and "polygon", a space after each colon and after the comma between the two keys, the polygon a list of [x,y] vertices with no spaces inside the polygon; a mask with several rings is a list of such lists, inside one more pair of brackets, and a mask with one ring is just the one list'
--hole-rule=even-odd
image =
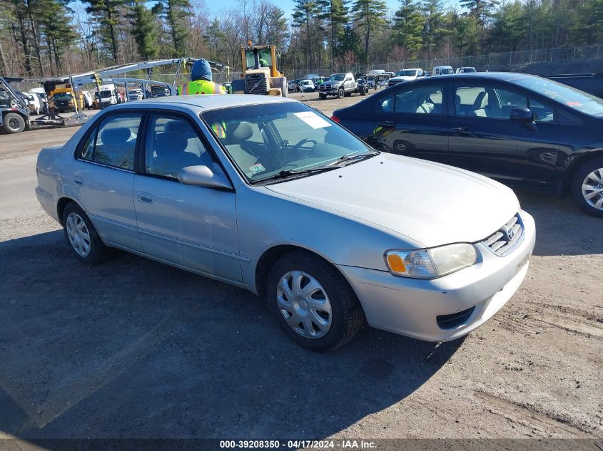
{"label": "windshield of the dark blue sedan", "polygon": [[603,116],[603,99],[547,78],[525,77],[513,83],[536,91],[557,102],[593,116]]}

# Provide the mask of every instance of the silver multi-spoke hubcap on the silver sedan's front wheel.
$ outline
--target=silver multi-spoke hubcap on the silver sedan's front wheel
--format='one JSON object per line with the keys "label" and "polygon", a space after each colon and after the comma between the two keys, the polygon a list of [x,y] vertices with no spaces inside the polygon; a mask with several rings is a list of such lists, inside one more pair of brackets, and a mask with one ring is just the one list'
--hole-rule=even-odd
{"label": "silver multi-spoke hubcap on the silver sedan's front wheel", "polygon": [[280,313],[290,328],[305,338],[325,336],[331,327],[331,303],[323,286],[303,271],[290,271],[276,289]]}

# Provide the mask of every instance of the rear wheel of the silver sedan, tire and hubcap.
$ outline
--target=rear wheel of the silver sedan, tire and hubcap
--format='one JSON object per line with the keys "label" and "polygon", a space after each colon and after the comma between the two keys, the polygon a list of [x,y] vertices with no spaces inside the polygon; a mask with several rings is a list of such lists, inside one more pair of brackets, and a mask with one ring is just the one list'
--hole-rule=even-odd
{"label": "rear wheel of the silver sedan, tire and hubcap", "polygon": [[110,249],[98,236],[92,222],[75,202],[67,204],[61,223],[65,239],[76,258],[89,265],[102,263],[110,255]]}

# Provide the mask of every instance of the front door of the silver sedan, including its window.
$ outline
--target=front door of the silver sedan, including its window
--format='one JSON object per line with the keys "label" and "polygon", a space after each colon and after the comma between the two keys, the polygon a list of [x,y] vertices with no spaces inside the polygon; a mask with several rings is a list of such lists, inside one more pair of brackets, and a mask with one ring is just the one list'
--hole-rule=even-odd
{"label": "front door of the silver sedan, including its window", "polygon": [[146,254],[164,261],[240,281],[234,190],[183,185],[182,167],[205,165],[222,171],[206,139],[189,118],[172,113],[148,116],[144,164],[134,180],[138,232]]}

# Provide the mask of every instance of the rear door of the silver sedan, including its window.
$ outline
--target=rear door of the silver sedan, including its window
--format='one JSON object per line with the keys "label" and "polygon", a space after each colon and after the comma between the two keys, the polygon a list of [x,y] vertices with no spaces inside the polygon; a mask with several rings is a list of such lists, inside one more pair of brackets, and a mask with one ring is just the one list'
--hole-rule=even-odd
{"label": "rear door of the silver sedan, including its window", "polygon": [[74,194],[106,244],[141,252],[133,185],[142,115],[120,112],[93,127],[76,150]]}

